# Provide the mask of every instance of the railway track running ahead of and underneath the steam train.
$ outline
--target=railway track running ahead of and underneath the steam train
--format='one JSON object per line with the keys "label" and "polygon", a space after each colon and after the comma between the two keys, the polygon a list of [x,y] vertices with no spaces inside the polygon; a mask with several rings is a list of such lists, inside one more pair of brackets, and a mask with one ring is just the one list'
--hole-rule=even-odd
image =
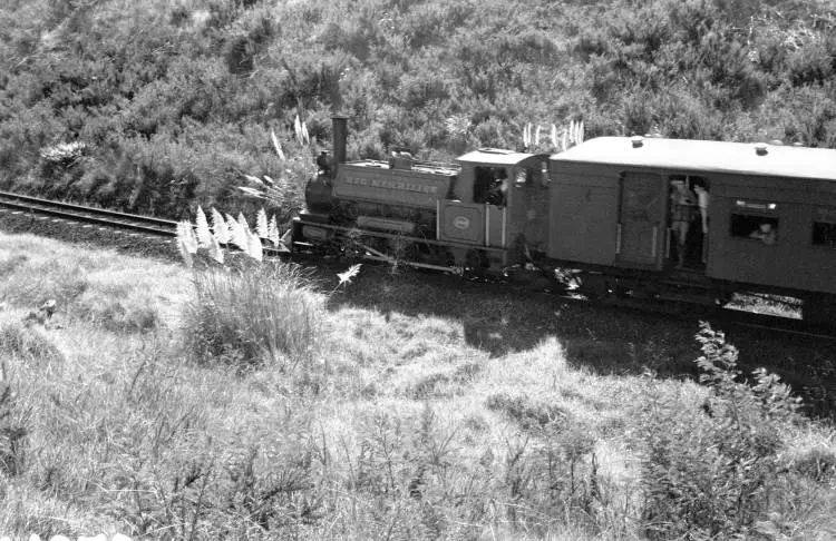
{"label": "railway track running ahead of and underneath the steam train", "polygon": [[[85,224],[117,232],[129,232],[161,238],[175,237],[177,228],[177,222],[174,220],[156,218],[153,216],[119,213],[116,210],[107,210],[103,208],[88,207],[70,203],[55,201],[9,191],[0,191],[0,210],[1,209],[11,210],[13,213],[22,213],[31,216],[46,216],[61,219],[68,223]],[[286,253],[269,247],[264,248],[264,253],[266,256],[286,256]],[[307,257],[305,255],[300,255],[300,257],[298,258],[305,263],[317,263],[315,259]],[[499,283],[495,281],[488,281],[488,283],[493,284],[494,286],[499,285]],[[527,293],[542,294],[543,291],[538,289],[535,292],[534,289],[529,289]],[[566,296],[565,294],[561,293],[551,292],[550,294],[563,301],[587,302],[573,296]],[[739,309],[703,309],[699,313],[696,313],[692,309],[686,309],[683,312],[680,309],[680,307],[671,308],[670,306],[663,306],[660,311],[660,307],[657,305],[657,303],[652,302],[632,303],[607,299],[606,302],[596,301],[594,303],[606,306],[633,308],[643,312],[663,312],[664,314],[680,318],[692,319],[694,317],[704,317],[709,321],[718,323],[721,322],[725,325],[735,325],[752,329],[761,329],[766,332],[786,333],[810,338],[836,340],[836,328],[834,327],[810,325],[808,322],[804,322],[801,319],[770,316]]]}

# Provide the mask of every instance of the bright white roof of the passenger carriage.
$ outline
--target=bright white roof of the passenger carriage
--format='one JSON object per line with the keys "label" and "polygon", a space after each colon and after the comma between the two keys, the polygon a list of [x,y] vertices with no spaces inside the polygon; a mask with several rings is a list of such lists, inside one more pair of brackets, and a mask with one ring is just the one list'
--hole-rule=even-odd
{"label": "bright white roof of the passenger carriage", "polygon": [[555,161],[655,167],[670,170],[736,173],[770,177],[836,180],[836,150],[693,139],[597,137],[560,154]]}

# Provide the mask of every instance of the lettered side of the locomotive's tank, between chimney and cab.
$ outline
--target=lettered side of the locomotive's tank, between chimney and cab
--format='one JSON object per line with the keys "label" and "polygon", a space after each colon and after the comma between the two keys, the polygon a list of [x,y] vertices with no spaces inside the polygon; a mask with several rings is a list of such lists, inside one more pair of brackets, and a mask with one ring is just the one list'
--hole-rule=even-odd
{"label": "lettered side of the locomotive's tank, between chimney and cab", "polygon": [[447,196],[451,177],[404,170],[346,167],[337,177],[333,195],[340,199],[436,208]]}

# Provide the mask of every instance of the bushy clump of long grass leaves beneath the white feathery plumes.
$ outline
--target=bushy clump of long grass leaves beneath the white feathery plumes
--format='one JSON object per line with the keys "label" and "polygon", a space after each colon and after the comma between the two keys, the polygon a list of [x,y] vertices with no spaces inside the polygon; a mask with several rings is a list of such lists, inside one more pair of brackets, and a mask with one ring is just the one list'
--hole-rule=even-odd
{"label": "bushy clump of long grass leaves beneath the white feathery plumes", "polygon": [[249,264],[195,270],[195,296],[185,314],[185,344],[198,362],[240,370],[279,363],[292,370],[312,358],[323,297],[300,267]]}

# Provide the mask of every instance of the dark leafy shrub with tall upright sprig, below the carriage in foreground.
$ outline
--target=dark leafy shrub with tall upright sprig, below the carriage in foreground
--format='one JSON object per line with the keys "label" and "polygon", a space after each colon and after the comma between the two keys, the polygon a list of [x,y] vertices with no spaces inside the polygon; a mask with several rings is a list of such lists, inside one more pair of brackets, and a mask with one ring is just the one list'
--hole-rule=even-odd
{"label": "dark leafy shrub with tall upright sprig, below the carriage in foreground", "polygon": [[781,486],[781,429],[795,421],[789,387],[766,371],[739,382],[737,348],[702,324],[697,363],[709,386],[702,409],[651,399],[642,423],[644,533],[650,539],[745,535]]}

